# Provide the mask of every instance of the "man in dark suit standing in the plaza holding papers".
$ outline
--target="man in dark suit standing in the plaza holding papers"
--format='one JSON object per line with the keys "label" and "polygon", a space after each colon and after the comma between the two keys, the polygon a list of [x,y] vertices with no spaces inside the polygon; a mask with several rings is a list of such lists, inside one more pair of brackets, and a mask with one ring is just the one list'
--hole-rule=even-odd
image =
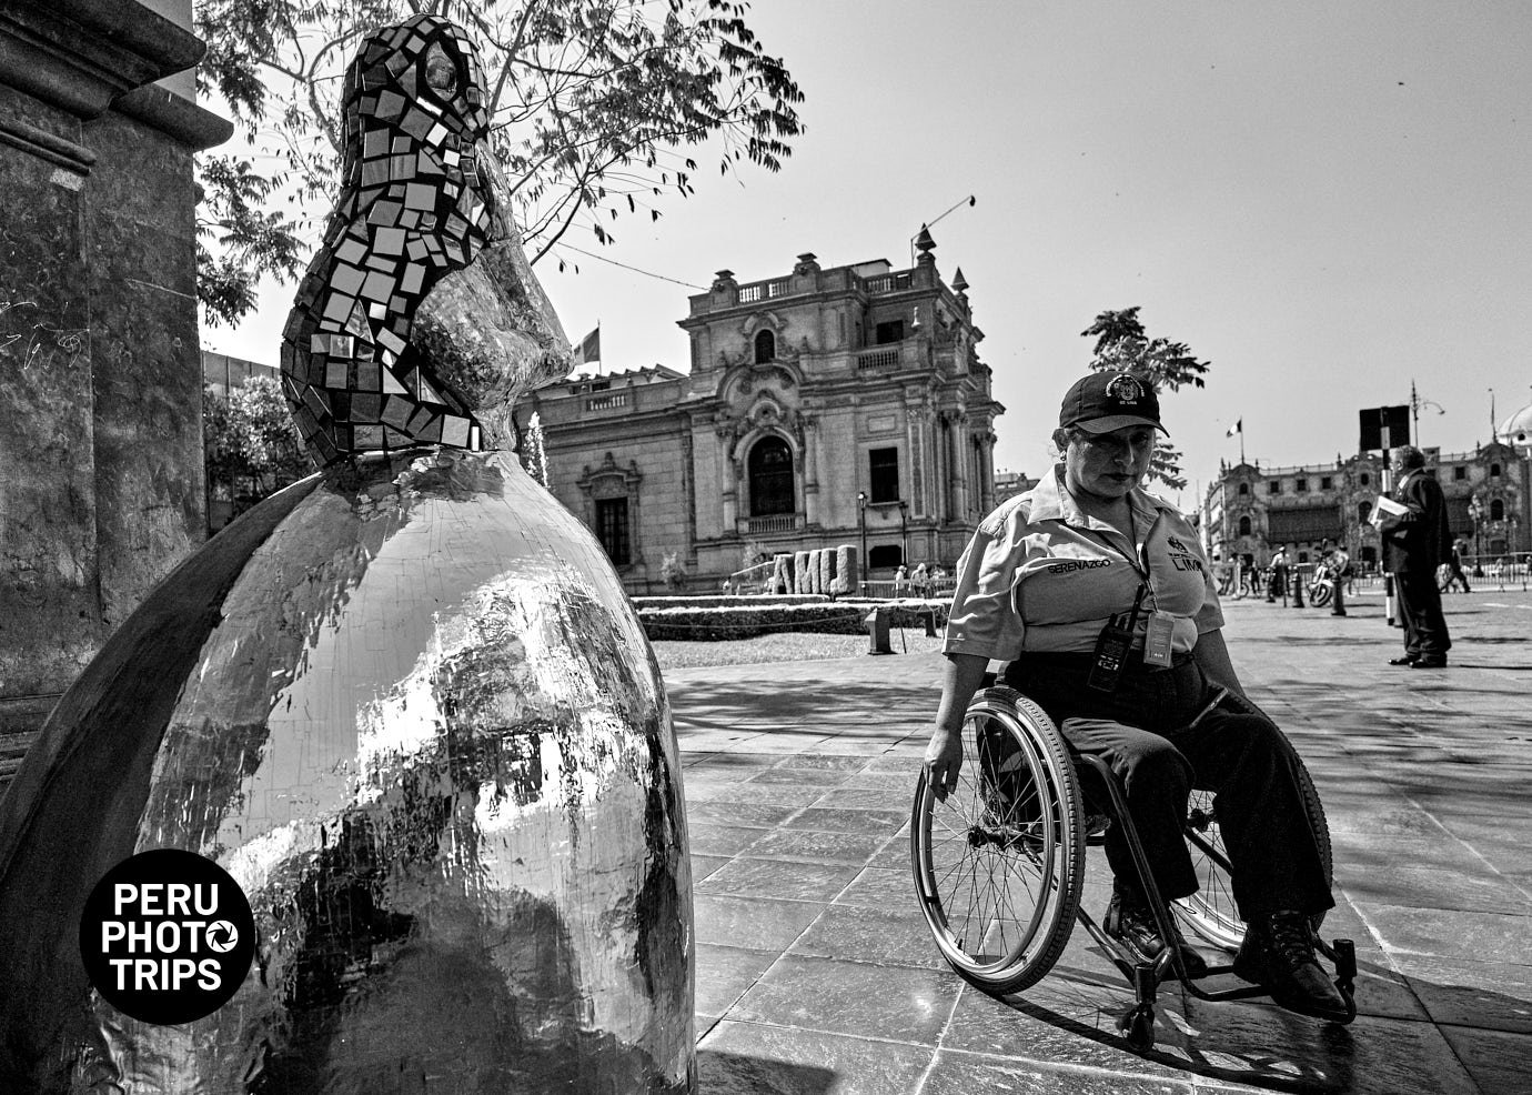
{"label": "man in dark suit standing in the plaza holding papers", "polygon": [[1383,537],[1383,560],[1394,572],[1399,613],[1405,620],[1405,656],[1390,666],[1445,669],[1452,640],[1442,617],[1442,590],[1437,567],[1452,554],[1452,534],[1446,524],[1446,498],[1442,485],[1426,474],[1426,457],[1414,445],[1393,451],[1394,498],[1403,514],[1388,514],[1377,531]]}

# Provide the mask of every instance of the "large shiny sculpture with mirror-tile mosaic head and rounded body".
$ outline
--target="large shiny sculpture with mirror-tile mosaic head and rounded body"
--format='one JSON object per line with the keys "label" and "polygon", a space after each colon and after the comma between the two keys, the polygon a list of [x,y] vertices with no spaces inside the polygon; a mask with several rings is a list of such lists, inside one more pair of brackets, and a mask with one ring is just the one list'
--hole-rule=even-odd
{"label": "large shiny sculpture with mirror-tile mosaic head and rounded body", "polygon": [[[669,707],[599,544],[507,448],[568,356],[481,95],[446,20],[362,46],[283,344],[325,469],[146,598],[0,799],[0,1090],[694,1090]],[[184,1026],[115,1011],[77,949],[97,879],[164,847],[256,916],[248,978]]]}

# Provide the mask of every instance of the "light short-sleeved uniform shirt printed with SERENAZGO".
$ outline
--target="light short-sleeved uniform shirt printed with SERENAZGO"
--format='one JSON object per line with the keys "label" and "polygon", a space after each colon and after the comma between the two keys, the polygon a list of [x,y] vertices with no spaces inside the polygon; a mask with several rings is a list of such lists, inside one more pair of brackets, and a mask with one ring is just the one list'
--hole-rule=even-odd
{"label": "light short-sleeved uniform shirt printed with SERENAZGO", "polygon": [[[1026,494],[984,518],[958,560],[945,653],[1010,661],[1022,652],[1095,649],[1115,612],[1129,612],[1147,584],[1138,644],[1149,612],[1170,613],[1170,649],[1187,652],[1224,626],[1196,531],[1167,501],[1128,495],[1137,543],[1080,512],[1063,489],[1063,465]],[[1147,564],[1147,578],[1144,577]]]}

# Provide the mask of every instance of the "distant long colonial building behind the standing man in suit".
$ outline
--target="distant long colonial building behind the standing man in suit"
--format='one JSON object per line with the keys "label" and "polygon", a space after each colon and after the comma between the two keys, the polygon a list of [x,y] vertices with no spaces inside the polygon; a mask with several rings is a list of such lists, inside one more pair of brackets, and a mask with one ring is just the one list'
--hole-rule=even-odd
{"label": "distant long colonial building behind the standing man in suit", "polygon": [[[1452,535],[1471,554],[1501,557],[1529,549],[1527,468],[1509,445],[1474,452],[1425,449],[1429,474],[1446,495]],[[1223,560],[1264,566],[1278,548],[1295,561],[1318,558],[1325,537],[1351,557],[1380,560],[1373,506],[1383,488],[1383,457],[1371,452],[1325,465],[1261,468],[1223,465],[1204,500],[1207,548]]]}

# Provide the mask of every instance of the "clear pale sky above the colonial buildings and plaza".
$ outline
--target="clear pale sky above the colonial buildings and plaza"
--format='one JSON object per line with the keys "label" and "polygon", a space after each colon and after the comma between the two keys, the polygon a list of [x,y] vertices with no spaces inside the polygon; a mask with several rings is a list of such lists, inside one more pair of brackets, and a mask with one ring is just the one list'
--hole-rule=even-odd
{"label": "clear pale sky above the colonial buildings and plaza", "polygon": [[[1164,399],[1203,488],[1244,420],[1262,463],[1354,452],[1357,409],[1422,400],[1420,442],[1489,439],[1532,402],[1532,6],[1524,0],[1097,3],[755,0],[801,84],[807,133],[780,175],[720,176],[584,250],[705,288],[910,261],[970,282],[1007,406],[996,465],[1039,474],[1095,313],[1212,362]],[[565,252],[538,265],[564,327],[607,368],[686,368],[699,291]],[[578,264],[576,275],[573,265]],[[276,360],[291,287],[204,345]],[[1187,491],[1183,505],[1192,501]]]}

